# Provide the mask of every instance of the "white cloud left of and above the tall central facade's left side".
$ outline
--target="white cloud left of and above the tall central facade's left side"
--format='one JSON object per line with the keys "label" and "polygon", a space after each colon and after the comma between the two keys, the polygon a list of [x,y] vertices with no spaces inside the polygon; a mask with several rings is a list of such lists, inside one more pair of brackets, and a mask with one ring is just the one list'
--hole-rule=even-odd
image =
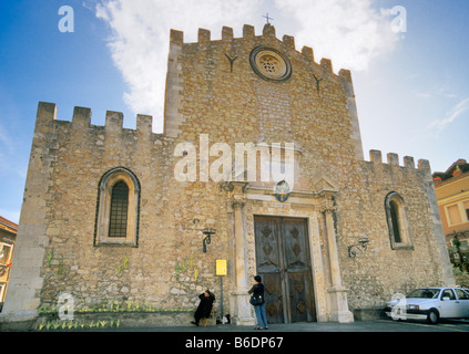
{"label": "white cloud left of and above the tall central facade's left side", "polygon": [[129,85],[124,100],[135,113],[151,114],[162,128],[170,29],[186,31],[195,41],[198,28],[237,25],[258,13],[263,0],[111,0],[96,7],[96,17],[113,30],[112,59]]}

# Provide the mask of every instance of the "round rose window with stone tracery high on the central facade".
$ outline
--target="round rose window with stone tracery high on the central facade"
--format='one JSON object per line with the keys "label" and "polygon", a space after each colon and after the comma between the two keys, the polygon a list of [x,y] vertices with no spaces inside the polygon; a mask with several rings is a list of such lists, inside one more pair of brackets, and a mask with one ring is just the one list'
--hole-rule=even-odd
{"label": "round rose window with stone tracery high on the central facade", "polygon": [[273,48],[255,48],[251,52],[249,62],[254,72],[267,81],[286,81],[292,75],[288,59]]}

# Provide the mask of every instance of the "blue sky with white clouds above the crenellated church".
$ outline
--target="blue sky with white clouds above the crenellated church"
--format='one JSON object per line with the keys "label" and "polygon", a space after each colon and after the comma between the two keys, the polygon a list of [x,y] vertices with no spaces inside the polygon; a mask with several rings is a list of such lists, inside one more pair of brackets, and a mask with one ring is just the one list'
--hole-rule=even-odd
{"label": "blue sky with white clouds above the crenellated church", "polygon": [[170,29],[276,35],[310,46],[316,62],[353,74],[365,159],[369,150],[430,160],[469,159],[467,0],[16,0],[0,2],[0,216],[18,222],[38,102],[58,118],[74,106],[154,118],[162,132]]}

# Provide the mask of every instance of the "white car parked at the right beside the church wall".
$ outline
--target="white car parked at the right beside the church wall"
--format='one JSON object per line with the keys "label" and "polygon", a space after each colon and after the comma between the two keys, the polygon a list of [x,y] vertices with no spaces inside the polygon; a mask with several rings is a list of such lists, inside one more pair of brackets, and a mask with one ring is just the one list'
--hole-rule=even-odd
{"label": "white car parked at the right beside the church wall", "polygon": [[469,319],[469,292],[460,288],[421,288],[407,296],[396,296],[385,312],[392,320]]}

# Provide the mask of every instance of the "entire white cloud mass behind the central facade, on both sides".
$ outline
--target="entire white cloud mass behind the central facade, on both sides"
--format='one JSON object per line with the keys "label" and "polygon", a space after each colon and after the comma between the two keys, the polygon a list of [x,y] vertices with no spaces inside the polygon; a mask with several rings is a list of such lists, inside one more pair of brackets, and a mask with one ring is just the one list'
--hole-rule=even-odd
{"label": "entire white cloud mass behind the central facade, on both sides", "polygon": [[113,31],[109,45],[129,85],[126,104],[153,115],[161,131],[170,29],[184,31],[186,42],[196,40],[198,28],[212,30],[216,39],[230,25],[236,35],[272,6],[299,28],[290,33],[297,43],[313,46],[317,60],[330,58],[336,71],[365,70],[397,41],[388,14],[374,10],[373,0],[102,0],[96,17]]}

